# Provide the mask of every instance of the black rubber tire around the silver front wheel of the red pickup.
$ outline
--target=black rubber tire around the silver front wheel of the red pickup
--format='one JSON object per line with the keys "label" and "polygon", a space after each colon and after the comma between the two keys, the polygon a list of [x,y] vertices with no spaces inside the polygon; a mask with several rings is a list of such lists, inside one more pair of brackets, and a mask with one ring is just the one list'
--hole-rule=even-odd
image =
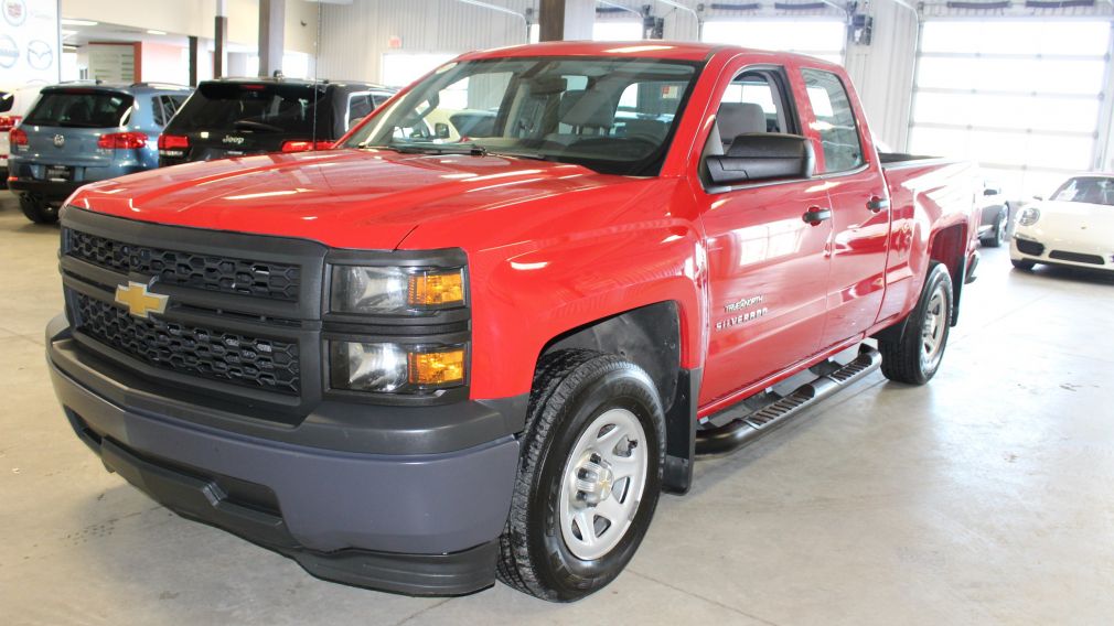
{"label": "black rubber tire around the silver front wheel of the red pickup", "polygon": [[[612,409],[632,412],[644,431],[644,487],[618,544],[584,560],[566,545],[559,527],[566,462],[588,427]],[[577,600],[606,586],[629,563],[649,527],[664,463],[665,417],[646,372],[589,350],[544,356],[534,375],[510,515],[499,538],[499,580],[550,601]]]}

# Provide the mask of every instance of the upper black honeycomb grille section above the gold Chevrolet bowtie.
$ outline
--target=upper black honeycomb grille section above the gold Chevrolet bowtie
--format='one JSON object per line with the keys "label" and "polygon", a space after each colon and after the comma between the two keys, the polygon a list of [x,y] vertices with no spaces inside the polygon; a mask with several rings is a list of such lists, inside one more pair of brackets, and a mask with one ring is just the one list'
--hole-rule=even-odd
{"label": "upper black honeycomb grille section above the gold Chevrolet bowtie", "polygon": [[66,254],[108,270],[156,276],[170,285],[297,301],[297,265],[135,245],[71,228],[62,241]]}

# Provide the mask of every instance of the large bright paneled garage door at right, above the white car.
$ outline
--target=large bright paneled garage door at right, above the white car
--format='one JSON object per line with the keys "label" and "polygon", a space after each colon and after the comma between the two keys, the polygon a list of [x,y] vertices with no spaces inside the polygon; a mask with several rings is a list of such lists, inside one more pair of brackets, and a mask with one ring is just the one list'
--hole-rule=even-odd
{"label": "large bright paneled garage door at right, above the white car", "polygon": [[928,21],[909,151],[977,160],[1014,197],[1048,194],[1098,149],[1108,21]]}

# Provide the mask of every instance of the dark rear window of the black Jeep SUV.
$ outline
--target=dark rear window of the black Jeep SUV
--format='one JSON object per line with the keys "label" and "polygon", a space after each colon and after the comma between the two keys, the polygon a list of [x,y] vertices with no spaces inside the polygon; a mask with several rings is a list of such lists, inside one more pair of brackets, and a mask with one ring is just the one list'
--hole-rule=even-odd
{"label": "dark rear window of the black Jeep SUV", "polygon": [[[320,107],[319,107],[320,105]],[[328,134],[325,90],[311,85],[203,84],[174,118],[175,133],[197,130]]]}

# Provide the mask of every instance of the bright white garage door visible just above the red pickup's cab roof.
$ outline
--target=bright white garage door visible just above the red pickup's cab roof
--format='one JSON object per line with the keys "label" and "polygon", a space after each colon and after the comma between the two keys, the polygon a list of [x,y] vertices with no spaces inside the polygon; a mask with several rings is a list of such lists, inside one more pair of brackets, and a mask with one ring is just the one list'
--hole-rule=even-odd
{"label": "bright white garage door visible just above the red pickup's cab roof", "polygon": [[709,21],[704,23],[703,40],[800,52],[842,65],[847,29],[843,22],[829,19]]}

